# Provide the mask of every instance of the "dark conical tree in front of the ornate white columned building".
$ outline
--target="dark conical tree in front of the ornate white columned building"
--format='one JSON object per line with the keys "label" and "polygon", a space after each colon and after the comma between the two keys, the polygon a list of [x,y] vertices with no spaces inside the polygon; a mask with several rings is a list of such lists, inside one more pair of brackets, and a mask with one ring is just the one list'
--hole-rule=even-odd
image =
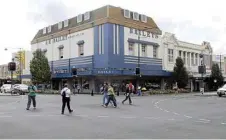
{"label": "dark conical tree in front of the ornate white columned building", "polygon": [[177,82],[178,88],[185,88],[188,84],[188,73],[180,57],[176,59],[176,64],[173,69],[173,79]]}

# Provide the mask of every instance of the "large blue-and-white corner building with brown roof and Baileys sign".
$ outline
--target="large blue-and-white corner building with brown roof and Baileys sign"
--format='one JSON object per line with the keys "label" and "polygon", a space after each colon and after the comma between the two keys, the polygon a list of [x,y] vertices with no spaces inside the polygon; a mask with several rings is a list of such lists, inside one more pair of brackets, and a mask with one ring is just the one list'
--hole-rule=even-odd
{"label": "large blue-and-white corner building with brown roof and Baileys sign", "polygon": [[[40,29],[31,50],[46,53],[54,88],[67,82],[98,91],[103,82],[138,85],[141,79],[170,76],[162,67],[161,34],[151,17],[107,5]],[[137,66],[142,78],[135,75]]]}

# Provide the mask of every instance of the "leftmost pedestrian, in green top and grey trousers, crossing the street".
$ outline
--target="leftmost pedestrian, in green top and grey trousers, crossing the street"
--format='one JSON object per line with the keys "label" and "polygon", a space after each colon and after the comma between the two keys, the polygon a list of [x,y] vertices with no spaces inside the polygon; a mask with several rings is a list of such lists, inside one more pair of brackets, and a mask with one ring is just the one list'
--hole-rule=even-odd
{"label": "leftmost pedestrian, in green top and grey trousers, crossing the street", "polygon": [[35,86],[35,83],[32,83],[30,86],[28,86],[28,102],[27,102],[27,110],[30,109],[31,102],[33,104],[34,109],[36,109],[36,92],[37,87]]}

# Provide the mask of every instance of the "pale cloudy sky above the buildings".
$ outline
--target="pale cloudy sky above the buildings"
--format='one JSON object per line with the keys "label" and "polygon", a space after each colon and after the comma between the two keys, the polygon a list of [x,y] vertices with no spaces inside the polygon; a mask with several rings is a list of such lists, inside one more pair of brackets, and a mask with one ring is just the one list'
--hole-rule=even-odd
{"label": "pale cloudy sky above the buildings", "polygon": [[150,16],[163,32],[174,33],[177,39],[191,43],[208,41],[214,53],[226,54],[224,3],[224,0],[1,1],[0,64],[8,63],[16,48],[29,50],[39,29],[107,4]]}

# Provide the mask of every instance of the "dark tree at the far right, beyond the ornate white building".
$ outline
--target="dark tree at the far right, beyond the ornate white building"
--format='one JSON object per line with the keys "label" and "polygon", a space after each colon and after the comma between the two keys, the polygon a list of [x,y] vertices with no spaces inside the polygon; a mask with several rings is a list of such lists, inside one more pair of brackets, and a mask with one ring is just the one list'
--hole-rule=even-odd
{"label": "dark tree at the far right, beyond the ornate white building", "polygon": [[217,90],[217,88],[223,85],[224,77],[217,63],[212,65],[212,71],[209,78],[209,88]]}

